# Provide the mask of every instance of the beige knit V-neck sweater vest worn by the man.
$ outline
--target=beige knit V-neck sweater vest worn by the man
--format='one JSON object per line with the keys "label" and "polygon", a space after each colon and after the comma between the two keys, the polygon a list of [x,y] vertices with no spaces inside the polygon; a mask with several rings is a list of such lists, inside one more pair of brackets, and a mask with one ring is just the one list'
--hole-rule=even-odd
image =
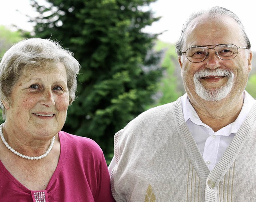
{"label": "beige knit V-neck sweater vest worn by the man", "polygon": [[180,98],[152,108],[115,134],[116,202],[255,202],[256,104],[210,172]]}

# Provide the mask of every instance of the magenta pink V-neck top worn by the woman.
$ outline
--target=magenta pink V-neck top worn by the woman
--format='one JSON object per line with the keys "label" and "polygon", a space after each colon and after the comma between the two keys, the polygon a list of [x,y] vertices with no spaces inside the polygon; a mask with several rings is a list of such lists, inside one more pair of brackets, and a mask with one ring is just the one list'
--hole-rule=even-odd
{"label": "magenta pink V-neck top worn by the woman", "polygon": [[0,161],[0,201],[114,202],[108,168],[98,144],[63,131],[59,137],[60,159],[46,190],[28,190]]}

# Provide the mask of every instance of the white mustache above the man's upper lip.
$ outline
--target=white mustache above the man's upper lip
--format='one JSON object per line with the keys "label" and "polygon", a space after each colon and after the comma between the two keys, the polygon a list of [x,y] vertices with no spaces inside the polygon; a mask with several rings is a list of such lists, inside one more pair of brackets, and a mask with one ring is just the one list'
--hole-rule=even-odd
{"label": "white mustache above the man's upper lip", "polygon": [[223,69],[216,69],[216,70],[201,70],[200,72],[196,72],[194,74],[194,80],[199,80],[203,77],[209,77],[209,76],[225,76],[228,78],[234,78],[234,73],[228,70]]}

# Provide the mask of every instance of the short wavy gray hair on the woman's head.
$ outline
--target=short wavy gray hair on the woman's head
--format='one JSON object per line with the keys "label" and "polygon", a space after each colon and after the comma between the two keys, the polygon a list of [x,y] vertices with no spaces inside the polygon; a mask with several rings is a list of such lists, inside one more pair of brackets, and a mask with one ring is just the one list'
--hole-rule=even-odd
{"label": "short wavy gray hair on the woman's head", "polygon": [[24,71],[34,68],[47,71],[58,62],[66,68],[69,104],[72,104],[76,98],[76,77],[80,70],[80,64],[73,55],[58,42],[50,39],[29,38],[14,44],[4,54],[0,63],[0,107],[3,110],[3,118],[6,118],[3,101],[12,104],[12,89]]}

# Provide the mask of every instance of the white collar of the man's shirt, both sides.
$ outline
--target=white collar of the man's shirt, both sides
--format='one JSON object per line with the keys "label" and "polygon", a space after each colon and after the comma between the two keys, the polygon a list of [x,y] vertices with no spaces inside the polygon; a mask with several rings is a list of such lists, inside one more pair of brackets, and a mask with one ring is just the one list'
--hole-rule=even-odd
{"label": "white collar of the man's shirt, both sides", "polygon": [[[237,133],[238,129],[240,128],[240,126],[242,125],[242,123],[244,122],[246,117],[248,116],[248,114],[252,108],[252,105],[255,102],[254,98],[252,98],[252,96],[250,96],[250,94],[248,94],[248,92],[246,92],[245,90],[243,93],[243,100],[244,100],[244,102],[243,102],[241,112],[238,115],[238,117],[236,118],[236,120],[233,123],[229,124],[228,126],[225,126],[224,128],[220,129],[218,132],[222,133],[223,132],[222,130],[228,130],[229,134]],[[183,111],[185,122],[187,122],[190,119],[193,122],[193,124],[196,124],[198,126],[204,126],[206,128],[210,128],[208,125],[204,124],[200,120],[198,114],[196,113],[196,110],[193,108],[192,104],[190,104],[187,94],[184,94],[181,97],[181,104],[182,104],[182,111]]]}

